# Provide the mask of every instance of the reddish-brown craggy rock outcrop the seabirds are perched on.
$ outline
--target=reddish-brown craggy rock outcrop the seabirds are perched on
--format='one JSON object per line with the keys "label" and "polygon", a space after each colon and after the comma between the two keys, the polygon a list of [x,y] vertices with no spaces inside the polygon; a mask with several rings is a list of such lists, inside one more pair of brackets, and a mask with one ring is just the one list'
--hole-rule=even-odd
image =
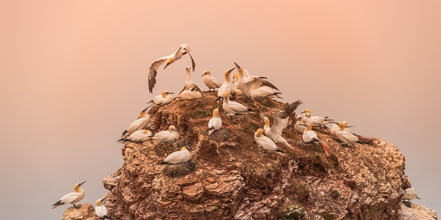
{"label": "reddish-brown craggy rock outcrop the seabirds are perched on", "polygon": [[[174,125],[174,143],[125,144],[124,164],[103,179],[110,190],[112,219],[400,219],[404,156],[382,139],[342,147],[317,132],[329,152],[301,144],[291,124],[283,136],[285,153],[263,153],[254,132],[285,104],[260,99],[245,104],[257,113],[227,116],[214,93],[200,100],[174,101],[150,109],[151,131]],[[223,129],[207,135],[212,110],[220,105]],[[300,107],[301,108],[301,107]],[[261,115],[260,115],[260,114]],[[192,160],[157,165],[187,147]]]}

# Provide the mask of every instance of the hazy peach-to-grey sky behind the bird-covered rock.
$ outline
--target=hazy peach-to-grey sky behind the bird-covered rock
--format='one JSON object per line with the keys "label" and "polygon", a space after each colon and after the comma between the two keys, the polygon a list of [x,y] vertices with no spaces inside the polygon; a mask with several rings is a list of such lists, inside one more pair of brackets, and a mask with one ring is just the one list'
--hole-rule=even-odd
{"label": "hazy peach-to-grey sky behind the bird-covered rock", "polygon": [[[384,137],[406,156],[422,203],[440,201],[440,1],[0,1],[0,219],[50,210],[87,181],[105,194],[121,132],[153,95],[150,63],[192,47],[193,80],[233,61],[285,101]],[[189,57],[158,74],[178,91]],[[165,80],[172,79],[171,85]],[[203,86],[204,88],[205,85]]]}

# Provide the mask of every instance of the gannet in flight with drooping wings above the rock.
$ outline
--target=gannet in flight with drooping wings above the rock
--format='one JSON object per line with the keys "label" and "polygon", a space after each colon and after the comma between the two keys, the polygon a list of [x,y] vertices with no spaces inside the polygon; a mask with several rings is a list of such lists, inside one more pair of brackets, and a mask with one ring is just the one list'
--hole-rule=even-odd
{"label": "gannet in flight with drooping wings above the rock", "polygon": [[190,56],[190,59],[192,59],[192,67],[194,72],[194,67],[196,65],[194,64],[194,60],[192,57],[192,54],[190,54],[190,48],[187,44],[181,45],[176,52],[173,54],[170,54],[170,56],[164,56],[161,58],[158,58],[156,61],[150,65],[149,70],[149,91],[150,93],[153,93],[153,87],[156,84],[156,74],[158,74],[159,66],[163,65],[165,63],[165,68],[168,67],[168,65],[172,64],[174,61],[177,61],[180,59],[183,55],[188,54]]}

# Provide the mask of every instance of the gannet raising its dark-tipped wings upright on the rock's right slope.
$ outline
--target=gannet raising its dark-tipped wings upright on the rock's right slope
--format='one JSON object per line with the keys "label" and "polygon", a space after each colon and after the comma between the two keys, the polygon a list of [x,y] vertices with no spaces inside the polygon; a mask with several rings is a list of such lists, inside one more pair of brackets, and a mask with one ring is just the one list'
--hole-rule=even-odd
{"label": "gannet raising its dark-tipped wings upright on the rock's right slope", "polygon": [[285,138],[282,137],[282,131],[283,131],[283,120],[287,118],[291,113],[296,111],[297,107],[302,104],[302,101],[298,100],[296,102],[292,102],[284,109],[274,113],[273,115],[273,126],[271,126],[270,129],[265,131],[265,135],[267,137],[271,138],[276,144],[281,142],[283,144],[286,144],[287,146],[290,146],[285,140]]}

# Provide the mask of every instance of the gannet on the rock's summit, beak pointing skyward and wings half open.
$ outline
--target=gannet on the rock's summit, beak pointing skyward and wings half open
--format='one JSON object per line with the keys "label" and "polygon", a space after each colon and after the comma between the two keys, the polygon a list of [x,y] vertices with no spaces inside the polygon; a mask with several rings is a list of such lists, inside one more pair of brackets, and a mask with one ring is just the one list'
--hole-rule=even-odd
{"label": "gannet on the rock's summit, beak pointing skyward and wings half open", "polygon": [[236,89],[240,89],[240,91],[245,94],[245,96],[251,98],[251,100],[254,100],[254,95],[252,94],[253,89],[258,89],[260,85],[265,85],[267,87],[271,87],[273,89],[277,89],[274,85],[269,83],[267,80],[264,80],[263,78],[259,78],[257,76],[249,76],[246,79],[243,78],[243,69],[237,63],[234,63],[236,65],[236,69],[239,72],[239,77],[236,82]]}

